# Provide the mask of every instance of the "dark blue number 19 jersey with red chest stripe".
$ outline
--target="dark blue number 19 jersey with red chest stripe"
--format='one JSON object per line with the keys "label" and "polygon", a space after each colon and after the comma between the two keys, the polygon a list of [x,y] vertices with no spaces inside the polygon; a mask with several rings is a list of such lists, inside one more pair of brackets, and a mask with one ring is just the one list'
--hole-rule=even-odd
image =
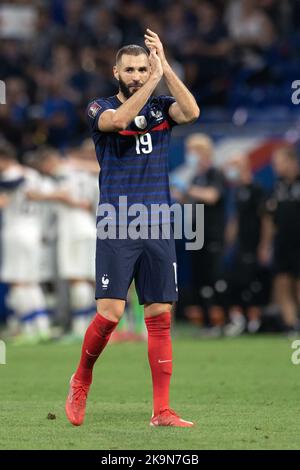
{"label": "dark blue number 19 jersey with red chest stripe", "polygon": [[128,206],[142,203],[171,204],[168,151],[172,127],[170,96],[150,97],[139,115],[125,130],[101,132],[98,120],[108,109],[117,109],[117,96],[93,100],[87,119],[101,171],[100,202],[110,203],[119,212],[119,196],[127,196]]}

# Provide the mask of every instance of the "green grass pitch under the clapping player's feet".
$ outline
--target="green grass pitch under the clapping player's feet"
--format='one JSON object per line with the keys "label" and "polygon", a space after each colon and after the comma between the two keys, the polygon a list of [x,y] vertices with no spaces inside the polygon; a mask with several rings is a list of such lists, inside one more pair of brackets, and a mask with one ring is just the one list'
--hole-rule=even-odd
{"label": "green grass pitch under the clapping player's feet", "polygon": [[[299,449],[300,365],[274,336],[174,340],[172,407],[193,429],[150,428],[146,344],[114,344],[97,362],[86,420],[64,402],[80,345],[7,346],[0,365],[1,449]],[[56,415],[47,419],[48,413]]]}

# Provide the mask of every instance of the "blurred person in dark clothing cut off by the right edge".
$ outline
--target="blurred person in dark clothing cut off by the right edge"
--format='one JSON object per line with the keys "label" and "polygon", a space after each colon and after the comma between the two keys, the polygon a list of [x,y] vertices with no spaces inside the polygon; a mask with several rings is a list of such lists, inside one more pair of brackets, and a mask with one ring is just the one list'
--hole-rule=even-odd
{"label": "blurred person in dark clothing cut off by the right edge", "polygon": [[279,306],[289,332],[299,331],[300,306],[300,167],[294,148],[275,151],[277,176],[263,220],[260,260],[274,265],[273,302]]}

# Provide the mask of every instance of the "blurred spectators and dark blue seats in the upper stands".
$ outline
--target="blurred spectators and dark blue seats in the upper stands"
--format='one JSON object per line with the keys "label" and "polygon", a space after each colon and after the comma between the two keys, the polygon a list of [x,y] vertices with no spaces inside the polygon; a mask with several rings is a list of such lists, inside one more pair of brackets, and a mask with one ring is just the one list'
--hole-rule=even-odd
{"label": "blurred spectators and dark blue seats in the upper stands", "polygon": [[0,127],[19,152],[78,143],[86,103],[115,91],[116,50],[150,24],[203,107],[289,105],[299,70],[297,0],[13,0],[0,15]]}

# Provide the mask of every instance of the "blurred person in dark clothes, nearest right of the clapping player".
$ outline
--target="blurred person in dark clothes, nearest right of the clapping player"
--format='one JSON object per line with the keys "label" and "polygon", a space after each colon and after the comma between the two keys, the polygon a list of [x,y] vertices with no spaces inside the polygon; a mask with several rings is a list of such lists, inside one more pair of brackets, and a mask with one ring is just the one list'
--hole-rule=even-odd
{"label": "blurred person in dark clothes, nearest right of the clapping player", "polygon": [[224,288],[225,180],[222,172],[214,166],[213,142],[207,135],[190,134],[185,141],[185,151],[186,168],[173,179],[175,196],[181,202],[205,206],[204,246],[190,252],[193,300],[192,305],[186,308],[186,315],[200,324],[203,324],[204,315],[208,316],[210,326],[216,327],[214,331],[217,333],[225,320],[219,299]]}

